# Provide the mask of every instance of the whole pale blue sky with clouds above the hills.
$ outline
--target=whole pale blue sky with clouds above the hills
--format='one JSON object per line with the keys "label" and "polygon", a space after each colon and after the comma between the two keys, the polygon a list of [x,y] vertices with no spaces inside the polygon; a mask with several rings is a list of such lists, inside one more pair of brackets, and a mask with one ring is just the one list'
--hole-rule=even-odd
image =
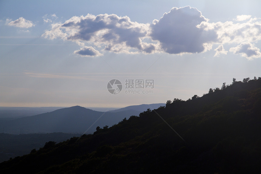
{"label": "whole pale blue sky with clouds above the hills", "polygon": [[261,1],[0,1],[0,106],[126,107],[261,76]]}

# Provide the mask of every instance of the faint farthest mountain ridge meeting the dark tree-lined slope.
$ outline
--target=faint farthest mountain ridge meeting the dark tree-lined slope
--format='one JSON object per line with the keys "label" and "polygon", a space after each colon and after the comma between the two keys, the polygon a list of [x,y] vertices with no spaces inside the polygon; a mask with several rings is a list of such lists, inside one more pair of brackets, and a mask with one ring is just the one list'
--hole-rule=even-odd
{"label": "faint farthest mountain ridge meeting the dark tree-lined slope", "polygon": [[147,109],[158,109],[161,106],[165,106],[165,103],[156,103],[156,104],[141,104],[141,105],[133,105],[133,106],[127,106],[120,109],[108,111],[108,112],[120,112],[120,111],[127,111],[127,110],[134,110],[134,111],[147,111]]}

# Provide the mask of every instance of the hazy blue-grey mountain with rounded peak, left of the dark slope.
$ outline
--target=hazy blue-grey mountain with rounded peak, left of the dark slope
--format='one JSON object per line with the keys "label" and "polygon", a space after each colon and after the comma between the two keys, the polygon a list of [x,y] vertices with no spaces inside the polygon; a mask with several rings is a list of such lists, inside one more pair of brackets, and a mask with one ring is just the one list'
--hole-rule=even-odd
{"label": "hazy blue-grey mountain with rounded peak, left of the dark slope", "polygon": [[125,110],[117,113],[99,112],[80,106],[58,109],[14,120],[1,120],[0,128],[5,133],[93,133],[96,127],[112,126],[125,117],[138,115],[139,111]]}

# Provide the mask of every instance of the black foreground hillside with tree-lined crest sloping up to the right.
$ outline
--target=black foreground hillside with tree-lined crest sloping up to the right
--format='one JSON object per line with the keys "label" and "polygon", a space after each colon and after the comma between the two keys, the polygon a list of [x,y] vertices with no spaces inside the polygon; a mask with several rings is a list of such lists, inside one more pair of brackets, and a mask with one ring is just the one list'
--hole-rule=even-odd
{"label": "black foreground hillside with tree-lined crest sloping up to the right", "polygon": [[1,173],[260,173],[261,79],[148,109],[0,163]]}

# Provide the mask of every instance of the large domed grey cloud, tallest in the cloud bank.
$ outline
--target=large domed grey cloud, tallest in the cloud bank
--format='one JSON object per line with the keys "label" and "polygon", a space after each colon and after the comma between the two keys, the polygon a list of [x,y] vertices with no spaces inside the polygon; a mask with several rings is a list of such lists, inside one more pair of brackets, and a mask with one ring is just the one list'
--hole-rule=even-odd
{"label": "large domed grey cloud, tallest in the cloud bank", "polygon": [[205,50],[204,43],[217,39],[215,31],[197,27],[207,21],[195,8],[175,7],[160,20],[154,20],[150,36],[160,41],[161,48],[167,53],[200,53]]}

